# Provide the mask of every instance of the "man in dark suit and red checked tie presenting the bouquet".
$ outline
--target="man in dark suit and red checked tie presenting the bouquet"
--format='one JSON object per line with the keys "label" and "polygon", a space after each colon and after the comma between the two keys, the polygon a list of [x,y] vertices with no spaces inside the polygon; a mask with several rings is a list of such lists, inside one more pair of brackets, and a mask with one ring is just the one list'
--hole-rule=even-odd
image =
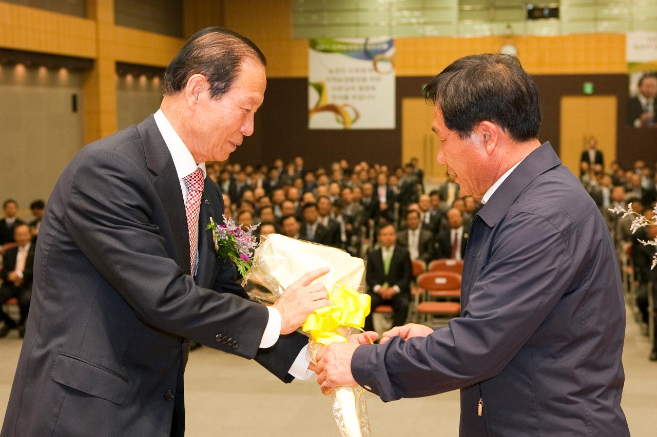
{"label": "man in dark suit and red checked tie presenting the bouquet", "polygon": [[310,285],[327,270],[261,306],[206,231],[223,201],[204,163],[253,133],[265,58],[242,35],[206,28],[162,82],[156,114],[83,148],[55,186],[3,437],[182,436],[186,339],[285,382],[308,376],[307,339],[294,331],[328,304]]}

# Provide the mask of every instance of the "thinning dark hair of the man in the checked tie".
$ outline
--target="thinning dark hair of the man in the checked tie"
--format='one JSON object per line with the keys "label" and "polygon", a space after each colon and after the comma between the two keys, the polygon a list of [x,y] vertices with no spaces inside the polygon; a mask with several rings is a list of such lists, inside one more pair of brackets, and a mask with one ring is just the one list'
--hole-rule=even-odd
{"label": "thinning dark hair of the man in the checked tie", "polygon": [[210,82],[210,96],[219,98],[231,89],[244,58],[267,65],[265,55],[247,37],[219,27],[201,29],[166,68],[162,91],[164,94],[179,93],[192,75],[200,73]]}

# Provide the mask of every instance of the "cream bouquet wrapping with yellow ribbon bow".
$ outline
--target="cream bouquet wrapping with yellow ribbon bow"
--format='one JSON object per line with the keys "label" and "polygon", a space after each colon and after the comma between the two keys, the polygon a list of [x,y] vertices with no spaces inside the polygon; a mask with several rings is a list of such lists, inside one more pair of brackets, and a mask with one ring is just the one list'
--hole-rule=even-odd
{"label": "cream bouquet wrapping with yellow ribbon bow", "polygon": [[[357,293],[363,283],[365,262],[334,247],[270,234],[263,238],[256,249],[253,266],[244,278],[244,289],[254,301],[272,304],[281,297],[288,285],[307,272],[321,267],[328,267],[330,270],[315,282],[325,285],[333,303],[340,301],[340,304],[352,309],[351,312],[346,312],[346,316],[342,316],[343,322],[362,327],[360,322],[354,321],[363,320],[369,313],[369,296]],[[367,311],[363,308],[360,312],[353,311],[354,307],[359,305],[367,306]],[[344,342],[351,334],[352,328],[349,325],[339,325],[332,331],[323,333],[311,330],[317,329],[317,319],[323,314],[335,313],[336,306],[338,305],[320,308],[304,323],[304,330],[312,334],[309,337],[308,354],[313,363],[320,348],[333,341]],[[326,326],[326,323],[323,325]],[[328,325],[332,328],[335,323]],[[313,337],[317,338],[317,341]],[[359,386],[338,387],[332,391],[333,416],[343,437],[371,435],[364,393],[365,390]]]}

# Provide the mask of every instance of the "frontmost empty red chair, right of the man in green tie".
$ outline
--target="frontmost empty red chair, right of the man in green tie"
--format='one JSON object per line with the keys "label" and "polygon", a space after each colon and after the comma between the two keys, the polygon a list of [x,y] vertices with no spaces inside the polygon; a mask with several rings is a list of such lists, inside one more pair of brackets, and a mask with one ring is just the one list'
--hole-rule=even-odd
{"label": "frontmost empty red chair, right of the man in green tie", "polygon": [[[461,275],[453,272],[427,272],[417,278],[422,290],[415,296],[418,318],[429,323],[434,316],[453,318],[461,312]],[[420,294],[424,294],[422,302]],[[440,299],[435,301],[432,299]],[[433,323],[431,323],[433,324]]]}

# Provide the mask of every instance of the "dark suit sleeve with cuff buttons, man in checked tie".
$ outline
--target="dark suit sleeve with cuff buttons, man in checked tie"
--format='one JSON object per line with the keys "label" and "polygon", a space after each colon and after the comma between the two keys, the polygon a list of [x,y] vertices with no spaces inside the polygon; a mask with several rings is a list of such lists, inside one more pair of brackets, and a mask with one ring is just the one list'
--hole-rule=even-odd
{"label": "dark suit sleeve with cuff buttons, man in checked tie", "polygon": [[[198,287],[167,252],[150,216],[159,201],[150,177],[123,154],[95,151],[76,170],[64,226],[102,278],[147,325],[254,358],[267,308]],[[218,334],[237,347],[215,340]]]}

